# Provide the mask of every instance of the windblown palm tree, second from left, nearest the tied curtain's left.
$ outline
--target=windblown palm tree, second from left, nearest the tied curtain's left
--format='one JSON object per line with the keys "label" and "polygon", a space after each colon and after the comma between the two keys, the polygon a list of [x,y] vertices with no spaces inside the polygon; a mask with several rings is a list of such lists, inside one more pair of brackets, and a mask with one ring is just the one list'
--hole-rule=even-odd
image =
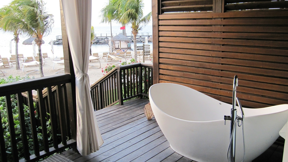
{"label": "windblown palm tree, second from left, nearest the tied curtain's left", "polygon": [[46,3],[42,0],[14,0],[11,3],[17,5],[19,10],[23,13],[23,21],[27,24],[22,28],[24,33],[30,37],[36,37],[35,43],[38,46],[40,76],[43,77],[41,53],[42,38],[43,36],[48,35],[52,30],[54,23],[53,15],[48,14],[45,11]]}

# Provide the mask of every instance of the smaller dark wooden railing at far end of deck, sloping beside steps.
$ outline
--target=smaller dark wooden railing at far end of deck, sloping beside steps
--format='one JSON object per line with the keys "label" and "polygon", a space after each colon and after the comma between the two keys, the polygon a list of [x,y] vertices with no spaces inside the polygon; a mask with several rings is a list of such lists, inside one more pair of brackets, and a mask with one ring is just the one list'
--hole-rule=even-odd
{"label": "smaller dark wooden railing at far end of deck, sloping beside steps", "polygon": [[94,110],[100,110],[134,97],[148,97],[153,85],[152,64],[134,63],[115,67],[91,85]]}

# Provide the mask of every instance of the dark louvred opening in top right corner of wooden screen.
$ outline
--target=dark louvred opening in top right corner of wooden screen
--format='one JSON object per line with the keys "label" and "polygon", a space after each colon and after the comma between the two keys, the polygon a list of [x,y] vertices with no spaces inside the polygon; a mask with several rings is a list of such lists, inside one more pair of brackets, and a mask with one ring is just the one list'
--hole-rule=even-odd
{"label": "dark louvred opening in top right corner of wooden screen", "polygon": [[287,7],[288,7],[288,1],[264,1],[264,2],[233,3],[233,4],[227,4],[224,6],[226,11],[269,9],[269,8],[287,8]]}

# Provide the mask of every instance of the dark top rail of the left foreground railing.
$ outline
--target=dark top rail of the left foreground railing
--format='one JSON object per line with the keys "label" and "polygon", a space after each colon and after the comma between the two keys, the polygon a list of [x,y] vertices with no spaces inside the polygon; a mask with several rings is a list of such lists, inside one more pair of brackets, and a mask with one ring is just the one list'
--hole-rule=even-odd
{"label": "dark top rail of the left foreground railing", "polygon": [[42,78],[35,78],[35,79],[1,84],[0,96],[12,95],[19,92],[26,92],[39,88],[46,88],[48,86],[65,84],[69,82],[71,82],[70,74],[59,74],[53,76],[46,76]]}

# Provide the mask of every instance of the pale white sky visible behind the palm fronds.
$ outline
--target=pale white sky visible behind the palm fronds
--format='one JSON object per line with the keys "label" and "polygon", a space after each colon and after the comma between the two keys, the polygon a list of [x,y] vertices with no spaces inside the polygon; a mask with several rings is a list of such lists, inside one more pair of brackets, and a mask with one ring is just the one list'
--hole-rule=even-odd
{"label": "pale white sky visible behind the palm fronds", "polygon": [[[60,5],[59,0],[44,0],[46,1],[46,9],[49,14],[54,15],[54,27],[61,27],[60,20]],[[11,0],[0,0],[0,8],[3,5],[8,5]],[[147,15],[152,10],[151,0],[143,0],[144,2],[144,15]],[[108,3],[108,0],[92,0],[92,26],[109,26],[109,24],[100,23],[101,19],[99,18],[101,9]],[[151,21],[152,22],[152,21]],[[150,25],[152,24],[150,22]],[[112,22],[112,25],[119,25],[116,22]]]}

